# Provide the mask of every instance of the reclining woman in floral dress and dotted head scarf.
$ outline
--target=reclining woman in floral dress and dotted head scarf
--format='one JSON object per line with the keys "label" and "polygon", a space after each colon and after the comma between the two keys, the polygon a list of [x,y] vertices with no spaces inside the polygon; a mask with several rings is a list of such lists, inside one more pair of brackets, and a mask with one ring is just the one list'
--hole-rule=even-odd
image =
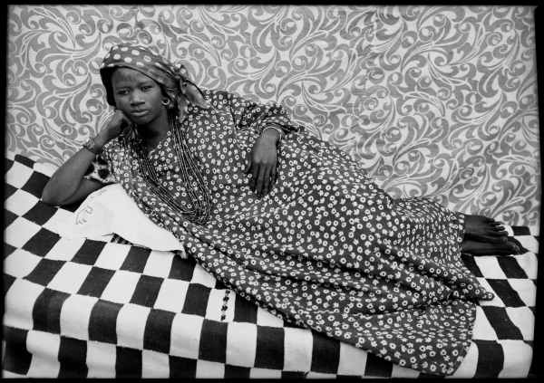
{"label": "reclining woman in floral dress and dotted head scarf", "polygon": [[54,173],[45,203],[120,183],[204,269],[279,318],[401,366],[459,366],[473,300],[492,299],[461,253],[518,253],[504,227],[393,199],[277,103],[202,91],[150,48],[113,46],[101,76],[112,120]]}

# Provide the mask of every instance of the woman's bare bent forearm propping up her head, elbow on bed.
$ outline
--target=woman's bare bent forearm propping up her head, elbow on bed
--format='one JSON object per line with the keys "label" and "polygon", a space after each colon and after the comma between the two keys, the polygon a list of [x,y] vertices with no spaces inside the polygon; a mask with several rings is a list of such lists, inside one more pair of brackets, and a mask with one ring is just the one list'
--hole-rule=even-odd
{"label": "woman's bare bent forearm propping up her head, elbow on bed", "polygon": [[[99,147],[103,147],[107,143],[108,139],[105,134],[100,133],[94,142]],[[47,185],[44,187],[42,193],[42,201],[47,205],[57,206],[64,205],[71,201],[72,197],[76,195],[78,190],[83,192],[83,196],[86,191],[90,194],[93,190],[98,189],[101,186],[97,184],[96,187],[85,187],[88,190],[81,190],[83,182],[83,176],[85,171],[89,168],[92,161],[96,158],[91,150],[82,148],[69,158],[61,168],[58,168]]]}

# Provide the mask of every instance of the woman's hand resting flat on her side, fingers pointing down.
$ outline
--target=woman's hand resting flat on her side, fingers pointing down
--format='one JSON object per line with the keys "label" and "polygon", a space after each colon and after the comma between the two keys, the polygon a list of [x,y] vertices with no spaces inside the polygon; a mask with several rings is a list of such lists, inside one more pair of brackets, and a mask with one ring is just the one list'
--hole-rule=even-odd
{"label": "woman's hand resting flat on her side, fingers pointing down", "polygon": [[245,174],[251,174],[249,188],[260,198],[272,191],[277,180],[277,141],[276,129],[266,129],[258,136],[249,158]]}

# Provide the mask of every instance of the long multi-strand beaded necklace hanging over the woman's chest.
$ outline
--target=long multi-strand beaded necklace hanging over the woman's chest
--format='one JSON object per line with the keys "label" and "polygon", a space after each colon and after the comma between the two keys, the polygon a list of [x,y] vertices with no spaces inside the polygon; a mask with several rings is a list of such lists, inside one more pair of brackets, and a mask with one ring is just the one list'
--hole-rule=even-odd
{"label": "long multi-strand beaded necklace hanging over the woman's chest", "polygon": [[141,175],[150,187],[151,192],[153,192],[155,196],[159,196],[164,203],[170,206],[170,208],[179,215],[187,218],[190,222],[203,225],[208,221],[209,215],[211,215],[211,209],[213,207],[211,194],[206,186],[204,177],[200,174],[199,168],[197,168],[197,165],[190,155],[180,122],[172,116],[169,116],[169,122],[170,130],[174,138],[174,147],[178,160],[180,161],[180,177],[188,191],[190,200],[194,206],[193,209],[185,208],[165,187],[162,187],[157,172],[149,160],[148,149],[146,145],[142,143],[141,139],[132,139],[130,142],[131,149],[136,154],[140,164]]}

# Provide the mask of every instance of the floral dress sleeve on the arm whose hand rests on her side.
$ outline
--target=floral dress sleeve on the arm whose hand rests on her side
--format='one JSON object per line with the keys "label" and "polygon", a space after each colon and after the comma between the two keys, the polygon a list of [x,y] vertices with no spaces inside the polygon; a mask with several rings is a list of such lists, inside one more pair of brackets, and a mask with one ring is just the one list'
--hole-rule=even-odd
{"label": "floral dress sleeve on the arm whose hand rests on her side", "polygon": [[218,91],[218,97],[226,99],[232,118],[238,129],[257,129],[262,132],[268,125],[275,125],[285,134],[300,132],[304,127],[294,124],[286,110],[277,102],[258,104],[228,91]]}

